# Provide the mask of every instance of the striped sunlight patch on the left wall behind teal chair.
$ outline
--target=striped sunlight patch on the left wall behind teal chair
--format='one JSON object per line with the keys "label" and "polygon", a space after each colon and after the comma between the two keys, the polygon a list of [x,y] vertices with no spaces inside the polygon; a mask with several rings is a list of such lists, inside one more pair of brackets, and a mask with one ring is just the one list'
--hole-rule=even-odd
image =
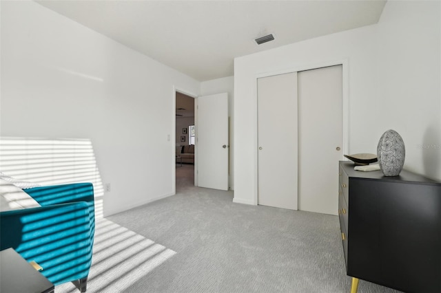
{"label": "striped sunlight patch on the left wall behind teal chair", "polygon": [[103,182],[89,139],[0,138],[0,171],[41,185],[90,182],[103,217]]}

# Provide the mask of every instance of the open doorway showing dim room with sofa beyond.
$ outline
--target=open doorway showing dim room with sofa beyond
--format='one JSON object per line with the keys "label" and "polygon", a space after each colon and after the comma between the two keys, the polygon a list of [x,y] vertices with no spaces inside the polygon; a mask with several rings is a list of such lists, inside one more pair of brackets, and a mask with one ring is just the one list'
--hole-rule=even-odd
{"label": "open doorway showing dim room with sofa beyond", "polygon": [[176,91],[176,193],[194,186],[194,98]]}

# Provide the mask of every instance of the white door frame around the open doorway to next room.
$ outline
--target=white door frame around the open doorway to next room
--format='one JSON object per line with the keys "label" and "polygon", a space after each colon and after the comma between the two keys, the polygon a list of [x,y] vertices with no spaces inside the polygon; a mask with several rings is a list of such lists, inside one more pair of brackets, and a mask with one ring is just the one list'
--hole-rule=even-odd
{"label": "white door frame around the open doorway to next room", "polygon": [[[198,95],[193,94],[190,91],[187,91],[186,89],[181,89],[180,87],[176,87],[175,85],[173,85],[173,102],[172,102],[172,131],[171,133],[173,133],[174,138],[176,139],[176,92],[179,92],[181,94],[185,94],[185,96],[189,96],[194,98],[194,126],[197,129],[197,116],[198,116],[198,111],[197,109],[197,98]],[[170,135],[172,136],[172,135]],[[196,136],[196,140],[197,140],[197,136]],[[174,154],[176,152],[176,142],[173,142],[171,144],[172,146],[172,154]],[[197,164],[198,164],[198,160],[197,160],[197,144],[195,143],[194,145],[194,186],[197,186],[198,183],[198,173],[197,173]],[[176,158],[173,157],[172,160],[172,194],[176,195]]]}

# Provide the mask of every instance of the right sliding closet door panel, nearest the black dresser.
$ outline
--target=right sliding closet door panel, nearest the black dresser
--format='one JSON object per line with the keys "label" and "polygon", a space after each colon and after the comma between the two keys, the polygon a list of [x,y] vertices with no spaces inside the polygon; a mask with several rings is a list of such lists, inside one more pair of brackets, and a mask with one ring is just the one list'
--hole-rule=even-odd
{"label": "right sliding closet door panel, nearest the black dresser", "polygon": [[342,65],[298,72],[298,208],[336,215]]}

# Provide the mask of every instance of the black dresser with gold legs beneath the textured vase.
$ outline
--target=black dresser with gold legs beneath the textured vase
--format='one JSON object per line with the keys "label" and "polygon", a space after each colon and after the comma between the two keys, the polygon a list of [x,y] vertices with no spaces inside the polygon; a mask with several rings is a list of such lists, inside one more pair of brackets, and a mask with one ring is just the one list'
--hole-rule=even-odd
{"label": "black dresser with gold legs beneath the textured vase", "polygon": [[338,215],[351,292],[358,279],[441,292],[441,183],[403,170],[354,171],[340,161]]}

